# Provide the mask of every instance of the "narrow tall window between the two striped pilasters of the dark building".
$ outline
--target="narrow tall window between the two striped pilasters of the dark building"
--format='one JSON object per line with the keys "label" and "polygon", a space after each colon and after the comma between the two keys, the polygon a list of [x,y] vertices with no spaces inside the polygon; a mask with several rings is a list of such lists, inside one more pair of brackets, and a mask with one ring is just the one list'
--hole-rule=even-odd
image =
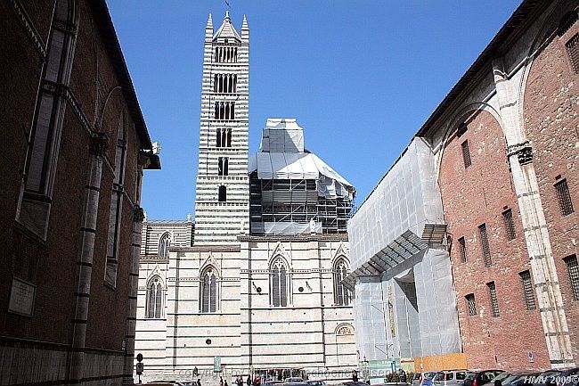
{"label": "narrow tall window between the two striped pilasters of the dark building", "polygon": [[113,286],[117,283],[118,242],[120,239],[120,221],[123,210],[123,192],[125,184],[126,162],[126,113],[123,111],[117,131],[115,150],[115,176],[112,183],[109,208],[109,234],[107,243],[107,267],[104,280]]}

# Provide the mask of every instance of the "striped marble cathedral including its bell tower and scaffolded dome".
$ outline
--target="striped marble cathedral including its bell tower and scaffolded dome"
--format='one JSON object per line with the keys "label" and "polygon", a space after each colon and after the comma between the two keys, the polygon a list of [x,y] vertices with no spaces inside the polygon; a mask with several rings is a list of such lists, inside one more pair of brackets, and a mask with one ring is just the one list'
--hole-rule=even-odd
{"label": "striped marble cathedral including its bell tower and scaffolded dome", "polygon": [[248,134],[248,22],[240,34],[229,14],[216,30],[209,16],[194,222],[143,223],[145,380],[357,365],[343,284],[354,186],[306,150],[296,119],[268,119],[251,157]]}

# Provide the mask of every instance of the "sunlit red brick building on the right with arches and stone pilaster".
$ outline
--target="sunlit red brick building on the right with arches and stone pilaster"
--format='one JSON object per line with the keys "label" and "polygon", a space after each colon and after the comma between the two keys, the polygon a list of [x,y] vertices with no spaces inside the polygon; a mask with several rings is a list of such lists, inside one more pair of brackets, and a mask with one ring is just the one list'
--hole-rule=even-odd
{"label": "sunlit red brick building on the right with arches and stone pilaster", "polygon": [[[516,370],[579,363],[577,6],[520,4],[416,135],[435,162],[427,176],[440,194],[428,204],[442,205],[444,221],[436,225],[446,227],[440,243],[419,233],[417,245],[449,253],[456,306],[446,311],[458,310],[461,349],[446,354],[463,357],[414,355],[415,364]],[[396,165],[385,179],[393,171]],[[396,206],[411,199],[399,197]],[[358,213],[348,227],[352,253],[371,260],[352,228],[363,223]]]}

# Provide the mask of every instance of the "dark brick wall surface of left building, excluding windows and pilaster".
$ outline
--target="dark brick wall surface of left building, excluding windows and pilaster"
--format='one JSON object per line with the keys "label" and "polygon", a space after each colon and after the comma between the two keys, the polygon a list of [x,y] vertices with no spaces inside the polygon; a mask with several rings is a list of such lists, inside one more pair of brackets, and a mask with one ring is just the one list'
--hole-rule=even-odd
{"label": "dark brick wall surface of left building, excluding windows and pilaster", "polygon": [[[75,3],[75,2],[72,2]],[[138,202],[136,181],[139,151],[143,136],[138,136],[126,93],[119,85],[123,80],[117,49],[102,12],[104,2],[79,0],[76,50],[70,75],[69,90],[77,100],[87,125],[79,119],[70,103],[66,103],[57,167],[54,175],[51,212],[45,240],[18,224],[18,202],[27,154],[26,138],[33,126],[37,92],[42,78],[42,54],[52,20],[55,1],[3,2],[0,18],[4,34],[0,45],[6,47],[0,57],[5,99],[0,114],[2,127],[12,127],[3,137],[0,175],[0,383],[64,381],[69,376],[70,345],[73,336],[72,319],[78,282],[77,260],[83,247],[86,185],[91,168],[91,132],[102,130],[109,136],[109,148],[102,168],[99,212],[94,244],[89,315],[86,334],[85,377],[94,384],[119,384],[123,375],[128,312],[129,268],[132,258],[133,206]],[[16,5],[14,5],[16,4]],[[19,13],[20,10],[23,13]],[[106,12],[105,12],[106,13]],[[28,27],[37,30],[40,48],[21,14],[28,15]],[[114,32],[113,32],[114,35]],[[114,38],[114,36],[113,36]],[[98,58],[98,60],[97,60]],[[106,101],[106,103],[105,103]],[[138,105],[137,105],[138,110]],[[120,226],[118,277],[116,288],[104,284],[107,255],[110,197],[115,163],[115,147],[120,117],[126,111],[128,119],[125,171],[125,195]],[[102,124],[101,124],[102,123]],[[110,166],[109,166],[110,165]],[[12,277],[16,276],[36,286],[32,316],[8,313]],[[42,343],[40,342],[42,341]],[[30,369],[29,365],[37,365]],[[111,365],[102,365],[102,364]],[[43,370],[44,369],[44,370]],[[130,373],[130,371],[129,371]]]}

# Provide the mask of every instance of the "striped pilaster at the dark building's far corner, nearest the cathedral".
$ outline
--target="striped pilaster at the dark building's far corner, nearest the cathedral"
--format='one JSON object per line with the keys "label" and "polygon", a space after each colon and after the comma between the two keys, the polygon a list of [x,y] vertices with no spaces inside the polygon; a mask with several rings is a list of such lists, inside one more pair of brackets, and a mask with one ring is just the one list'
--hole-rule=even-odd
{"label": "striped pilaster at the dark building's far corner, nearest the cathedral", "polygon": [[[139,171],[140,172],[140,171]],[[139,254],[141,253],[141,230],[143,229],[143,208],[135,206],[133,209],[133,243],[131,244],[131,266],[128,284],[128,312],[126,314],[125,333],[125,370],[123,375],[124,385],[133,385],[133,361],[135,357],[135,325],[136,325],[136,299],[139,284]]]}

